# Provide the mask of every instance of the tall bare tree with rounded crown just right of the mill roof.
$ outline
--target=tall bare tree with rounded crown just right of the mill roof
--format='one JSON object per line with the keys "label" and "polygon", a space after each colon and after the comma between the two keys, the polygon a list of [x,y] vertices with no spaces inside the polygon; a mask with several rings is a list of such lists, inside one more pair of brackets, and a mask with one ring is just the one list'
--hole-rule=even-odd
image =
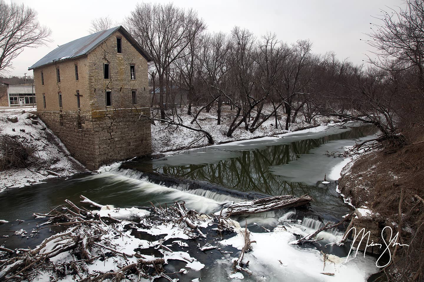
{"label": "tall bare tree with rounded crown just right of the mill roof", "polygon": [[[183,52],[195,34],[206,26],[192,9],[183,10],[172,3],[161,5],[138,4],[127,18],[130,32],[153,58],[159,77],[159,107],[161,120],[165,119],[165,74],[175,60],[187,55]],[[197,32],[193,32],[197,30]]]}

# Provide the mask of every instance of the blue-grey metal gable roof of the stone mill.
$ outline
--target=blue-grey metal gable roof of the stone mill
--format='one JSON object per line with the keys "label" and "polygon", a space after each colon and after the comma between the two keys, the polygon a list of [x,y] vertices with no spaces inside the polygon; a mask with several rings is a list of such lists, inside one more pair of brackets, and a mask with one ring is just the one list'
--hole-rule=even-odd
{"label": "blue-grey metal gable roof of the stone mill", "polygon": [[149,57],[146,52],[141,48],[141,46],[137,43],[137,41],[135,41],[135,39],[128,33],[128,31],[126,31],[120,25],[118,27],[113,27],[108,30],[93,33],[63,44],[48,53],[47,55],[45,55],[44,57],[42,57],[38,62],[29,67],[28,70],[31,70],[33,68],[39,68],[40,66],[49,65],[54,62],[64,61],[87,55],[117,30],[119,30],[123,34],[123,36],[125,36],[125,38],[134,46],[135,49],[137,49],[137,51],[143,57],[145,57],[148,62],[152,60],[151,57]]}

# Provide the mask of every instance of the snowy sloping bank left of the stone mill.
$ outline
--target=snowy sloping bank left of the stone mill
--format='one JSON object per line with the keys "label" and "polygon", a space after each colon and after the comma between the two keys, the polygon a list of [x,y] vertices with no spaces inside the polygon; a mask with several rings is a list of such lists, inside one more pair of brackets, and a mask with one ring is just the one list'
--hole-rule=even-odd
{"label": "snowy sloping bank left of the stone mill", "polygon": [[[47,170],[61,176],[86,171],[85,167],[73,159],[62,142],[38,118],[34,125],[28,117],[29,111],[36,113],[36,108],[0,110],[0,135],[9,135],[21,144],[34,148],[34,157],[28,160],[28,168],[11,168],[0,171],[0,192],[8,187],[20,187],[40,182],[46,178],[56,177]],[[7,118],[17,117],[12,123]],[[25,130],[25,132],[21,131]]]}

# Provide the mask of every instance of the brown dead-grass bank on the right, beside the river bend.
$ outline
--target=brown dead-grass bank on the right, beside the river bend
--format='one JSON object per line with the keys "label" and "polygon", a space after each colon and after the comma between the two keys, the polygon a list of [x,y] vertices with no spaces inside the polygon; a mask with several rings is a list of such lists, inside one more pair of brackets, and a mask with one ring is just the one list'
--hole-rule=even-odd
{"label": "brown dead-grass bank on the right, beside the river bend", "polygon": [[378,151],[357,159],[339,187],[351,196],[355,206],[367,205],[381,214],[394,233],[399,231],[398,242],[409,245],[392,254],[392,263],[383,271],[388,281],[422,281],[424,203],[416,195],[424,198],[424,134],[415,135],[396,153],[387,152]]}

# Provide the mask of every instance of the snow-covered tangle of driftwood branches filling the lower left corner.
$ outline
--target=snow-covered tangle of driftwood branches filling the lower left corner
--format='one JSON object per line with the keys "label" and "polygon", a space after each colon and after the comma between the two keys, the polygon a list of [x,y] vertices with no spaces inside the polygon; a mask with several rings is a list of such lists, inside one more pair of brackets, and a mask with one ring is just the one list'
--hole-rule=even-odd
{"label": "snow-covered tangle of driftwood branches filling the lower left corner", "polygon": [[[81,196],[84,203],[96,207],[106,207]],[[36,218],[46,217],[47,222],[39,226],[43,228],[63,228],[63,232],[50,236],[35,249],[0,249],[0,281],[31,281],[39,275],[54,279],[67,278],[84,282],[97,282],[105,279],[120,281],[131,277],[137,279],[165,278],[173,281],[171,274],[166,273],[164,257],[142,255],[134,249],[125,249],[125,244],[137,239],[130,235],[132,230],[142,227],[154,227],[166,222],[178,224],[186,231],[189,238],[204,236],[198,227],[199,213],[188,211],[184,203],[176,203],[170,207],[155,207],[152,210],[155,219],[125,219],[120,220],[112,216],[103,219],[84,207],[75,205],[66,200],[67,205],[61,205],[52,211],[39,214]],[[173,252],[165,246],[164,240],[150,242],[151,248]],[[169,246],[169,245],[168,245]],[[141,246],[142,247],[142,246]],[[67,260],[58,257],[69,257]],[[119,266],[115,271],[89,270],[90,265],[103,265],[103,261],[113,257],[114,264]],[[193,261],[192,259],[191,261]],[[190,260],[187,260],[190,261]],[[185,273],[185,269],[176,273]],[[47,276],[46,276],[47,275]],[[43,276],[44,277],[44,276]]]}

